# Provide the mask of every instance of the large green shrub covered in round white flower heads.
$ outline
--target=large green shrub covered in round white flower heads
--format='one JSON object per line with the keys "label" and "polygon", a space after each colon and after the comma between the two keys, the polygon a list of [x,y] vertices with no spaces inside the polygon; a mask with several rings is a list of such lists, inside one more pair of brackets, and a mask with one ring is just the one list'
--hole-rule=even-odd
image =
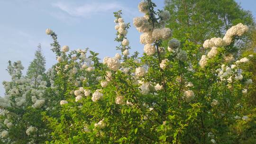
{"label": "large green shrub covered in round white flower heads", "polygon": [[[10,63],[13,80],[4,82],[7,96],[1,99],[2,142],[17,143],[9,135],[22,125],[27,143],[234,143],[238,133],[232,126],[255,120],[245,100],[251,73],[241,69],[253,55],[236,62],[232,55],[234,36],[248,27],[238,24],[223,38],[206,40],[203,47],[211,50],[205,55],[200,45],[172,38],[165,28],[169,12],[154,7],[142,0],[138,9],[145,16],[133,19],[142,33],[141,57],[128,51],[130,25],[121,11],[114,13],[120,54],[102,63],[95,52],[86,57],[88,49],[68,53],[69,47],[61,47],[55,32],[46,29],[57,63],[38,87],[21,76],[20,62]],[[25,124],[17,110],[40,117]],[[39,141],[41,136],[46,138]]]}

